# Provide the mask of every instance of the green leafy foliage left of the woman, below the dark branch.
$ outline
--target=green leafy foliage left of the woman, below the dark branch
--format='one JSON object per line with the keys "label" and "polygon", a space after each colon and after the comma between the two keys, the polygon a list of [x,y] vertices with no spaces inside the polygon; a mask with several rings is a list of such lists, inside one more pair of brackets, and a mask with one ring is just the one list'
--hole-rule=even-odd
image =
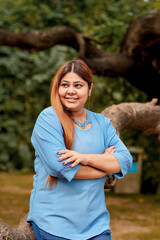
{"label": "green leafy foliage left of the woman, below the dark branch", "polygon": [[60,62],[67,60],[65,55],[71,57],[67,52],[64,47],[32,54],[1,48],[1,170],[33,168],[30,144],[33,125],[40,111],[49,105],[50,79]]}

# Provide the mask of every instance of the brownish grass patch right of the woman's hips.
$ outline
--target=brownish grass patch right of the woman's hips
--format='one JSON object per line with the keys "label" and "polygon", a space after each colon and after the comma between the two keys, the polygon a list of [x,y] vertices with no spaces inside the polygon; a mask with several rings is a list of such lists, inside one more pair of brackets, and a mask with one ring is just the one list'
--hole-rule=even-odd
{"label": "brownish grass patch right of the woman's hips", "polygon": [[111,215],[112,239],[160,239],[159,200],[156,195],[109,194],[106,205]]}

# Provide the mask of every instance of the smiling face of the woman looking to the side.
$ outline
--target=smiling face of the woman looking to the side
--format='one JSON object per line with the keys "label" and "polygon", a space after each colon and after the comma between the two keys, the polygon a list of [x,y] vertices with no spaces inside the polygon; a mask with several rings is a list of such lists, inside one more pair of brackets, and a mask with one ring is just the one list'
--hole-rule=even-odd
{"label": "smiling face of the woman looking to the side", "polygon": [[69,72],[61,79],[59,96],[63,106],[71,112],[78,112],[91,95],[92,85],[89,89],[88,83],[74,72]]}

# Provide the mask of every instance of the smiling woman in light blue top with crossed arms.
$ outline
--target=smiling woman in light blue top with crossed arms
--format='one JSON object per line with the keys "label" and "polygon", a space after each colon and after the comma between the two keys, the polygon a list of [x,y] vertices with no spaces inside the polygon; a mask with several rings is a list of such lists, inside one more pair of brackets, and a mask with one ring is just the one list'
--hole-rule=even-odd
{"label": "smiling woman in light blue top with crossed arms", "polygon": [[91,70],[82,60],[65,63],[52,81],[52,106],[36,121],[27,221],[39,240],[111,239],[105,180],[107,173],[122,178],[132,157],[110,120],[84,108],[92,87]]}

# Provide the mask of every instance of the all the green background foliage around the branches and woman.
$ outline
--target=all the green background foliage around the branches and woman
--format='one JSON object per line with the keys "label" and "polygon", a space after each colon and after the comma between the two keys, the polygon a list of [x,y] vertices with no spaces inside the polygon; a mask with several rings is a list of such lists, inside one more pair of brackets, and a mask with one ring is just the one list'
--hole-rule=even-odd
{"label": "all the green background foliage around the branches and woman", "polygon": [[[158,0],[0,0],[0,5],[0,28],[18,32],[65,25],[105,41],[105,44],[97,46],[112,52],[119,52],[131,22],[160,9]],[[1,170],[33,169],[34,152],[30,136],[35,120],[40,111],[50,105],[49,86],[55,71],[64,61],[74,57],[76,52],[64,46],[32,53],[0,47]],[[104,107],[120,102],[147,100],[144,93],[124,78],[94,76],[90,104],[93,111],[100,112]],[[146,150],[148,160],[145,160],[143,170],[144,182],[151,179],[157,187],[158,144],[150,147],[153,140],[149,137],[141,139],[137,132],[126,135],[122,134],[122,137],[127,145],[142,145],[143,142],[146,149],[151,149]],[[153,152],[155,156],[151,162]]]}

